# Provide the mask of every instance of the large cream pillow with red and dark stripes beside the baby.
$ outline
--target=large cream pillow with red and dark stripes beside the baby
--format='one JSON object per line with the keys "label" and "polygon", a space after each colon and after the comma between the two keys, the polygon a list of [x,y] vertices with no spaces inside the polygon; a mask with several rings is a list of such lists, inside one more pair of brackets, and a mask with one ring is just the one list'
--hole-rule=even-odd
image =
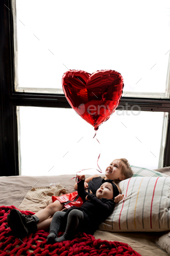
{"label": "large cream pillow with red and dark stripes beside the baby", "polygon": [[100,230],[154,232],[170,228],[170,177],[132,177],[120,182],[125,195]]}

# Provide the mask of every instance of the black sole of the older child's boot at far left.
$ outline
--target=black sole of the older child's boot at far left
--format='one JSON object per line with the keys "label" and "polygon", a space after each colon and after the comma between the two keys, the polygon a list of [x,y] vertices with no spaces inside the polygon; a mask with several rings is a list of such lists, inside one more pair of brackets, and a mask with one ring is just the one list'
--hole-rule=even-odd
{"label": "black sole of the older child's boot at far left", "polygon": [[11,227],[14,235],[18,238],[24,238],[28,235],[28,229],[23,224],[20,211],[12,209],[9,214],[9,227]]}

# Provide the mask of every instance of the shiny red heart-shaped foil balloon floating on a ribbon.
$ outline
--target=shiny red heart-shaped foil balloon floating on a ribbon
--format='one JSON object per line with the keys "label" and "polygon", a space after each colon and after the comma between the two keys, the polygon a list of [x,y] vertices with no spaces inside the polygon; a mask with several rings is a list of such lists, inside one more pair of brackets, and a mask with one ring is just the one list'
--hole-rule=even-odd
{"label": "shiny red heart-shaped foil balloon floating on a ribbon", "polygon": [[63,92],[71,107],[97,130],[120,104],[123,77],[115,70],[89,74],[69,70],[63,74]]}

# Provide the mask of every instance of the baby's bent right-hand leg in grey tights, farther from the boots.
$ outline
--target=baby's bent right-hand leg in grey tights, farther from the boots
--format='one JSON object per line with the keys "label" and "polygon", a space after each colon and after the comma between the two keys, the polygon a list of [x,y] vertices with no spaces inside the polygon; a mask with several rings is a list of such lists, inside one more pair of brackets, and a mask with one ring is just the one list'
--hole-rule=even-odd
{"label": "baby's bent right-hand leg in grey tights, farther from the boots", "polygon": [[[69,215],[67,217],[67,223],[66,223],[66,230],[63,233],[63,236],[56,237],[55,242],[61,242],[66,240],[71,240],[80,227],[81,223],[84,220],[84,214],[82,211],[74,209],[69,212]],[[51,226],[50,226],[51,228]]]}

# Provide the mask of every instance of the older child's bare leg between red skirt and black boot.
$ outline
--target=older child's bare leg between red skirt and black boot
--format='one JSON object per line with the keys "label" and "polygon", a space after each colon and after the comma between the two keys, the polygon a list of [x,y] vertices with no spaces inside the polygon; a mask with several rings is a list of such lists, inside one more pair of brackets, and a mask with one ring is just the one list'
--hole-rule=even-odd
{"label": "older child's bare leg between red skirt and black boot", "polygon": [[42,209],[41,211],[38,211],[34,215],[39,218],[39,222],[42,222],[43,220],[55,214],[55,211],[61,211],[62,209],[63,209],[63,204],[60,203],[58,200],[56,200],[54,203],[50,203],[50,205],[48,205],[46,208]]}

